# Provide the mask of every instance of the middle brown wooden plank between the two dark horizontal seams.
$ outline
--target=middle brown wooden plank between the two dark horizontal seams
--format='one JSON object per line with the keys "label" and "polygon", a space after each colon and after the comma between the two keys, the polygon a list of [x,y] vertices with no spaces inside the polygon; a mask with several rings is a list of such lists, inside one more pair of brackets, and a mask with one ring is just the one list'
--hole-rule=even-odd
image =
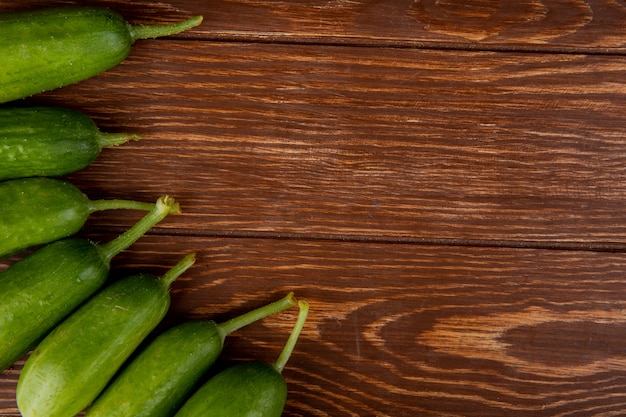
{"label": "middle brown wooden plank between the two dark horizontal seams", "polygon": [[182,233],[623,244],[626,58],[450,59],[146,41],[31,102],[144,135],[71,179],[93,197],[172,193]]}

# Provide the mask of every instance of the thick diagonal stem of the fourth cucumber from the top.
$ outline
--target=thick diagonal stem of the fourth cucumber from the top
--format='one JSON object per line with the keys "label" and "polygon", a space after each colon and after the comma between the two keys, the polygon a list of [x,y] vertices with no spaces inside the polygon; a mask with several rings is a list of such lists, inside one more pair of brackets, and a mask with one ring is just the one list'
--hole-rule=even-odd
{"label": "thick diagonal stem of the fourth cucumber from the top", "polygon": [[141,220],[133,227],[116,237],[110,242],[100,245],[100,256],[105,263],[111,262],[111,259],[118,253],[122,252],[130,245],[135,243],[137,239],[143,236],[155,224],[167,217],[168,214],[180,213],[180,207],[173,198],[168,196],[159,197],[156,204]]}

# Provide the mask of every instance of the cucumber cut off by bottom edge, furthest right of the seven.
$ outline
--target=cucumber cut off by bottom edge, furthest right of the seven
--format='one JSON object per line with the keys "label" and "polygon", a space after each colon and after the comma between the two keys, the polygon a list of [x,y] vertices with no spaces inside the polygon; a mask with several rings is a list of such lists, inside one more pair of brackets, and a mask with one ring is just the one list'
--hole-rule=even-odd
{"label": "cucumber cut off by bottom edge, furthest right of the seven", "polygon": [[301,300],[298,305],[298,320],[274,365],[248,361],[226,368],[202,385],[175,417],[280,417],[287,400],[287,383],[282,371],[309,310],[306,301]]}

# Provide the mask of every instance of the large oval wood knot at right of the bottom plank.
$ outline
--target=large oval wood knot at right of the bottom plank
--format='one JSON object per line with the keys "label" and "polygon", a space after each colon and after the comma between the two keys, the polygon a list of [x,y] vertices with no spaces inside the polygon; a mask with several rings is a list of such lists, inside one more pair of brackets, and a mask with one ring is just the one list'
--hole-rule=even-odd
{"label": "large oval wood knot at right of the bottom plank", "polygon": [[626,368],[622,309],[517,312],[439,318],[418,339],[432,351],[497,361],[517,372],[586,376]]}

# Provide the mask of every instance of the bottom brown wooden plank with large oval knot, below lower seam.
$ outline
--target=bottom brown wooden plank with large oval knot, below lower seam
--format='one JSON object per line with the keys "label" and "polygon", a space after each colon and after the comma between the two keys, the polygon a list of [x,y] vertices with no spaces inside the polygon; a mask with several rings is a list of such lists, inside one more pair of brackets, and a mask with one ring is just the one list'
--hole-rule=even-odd
{"label": "bottom brown wooden plank with large oval knot, below lower seam", "polygon": [[[106,241],[109,235],[91,235]],[[162,273],[168,325],[232,317],[295,291],[310,320],[285,371],[285,416],[607,416],[626,389],[623,254],[151,235],[114,276]],[[295,310],[228,339],[224,360],[272,361]],[[0,376],[16,415],[21,365]]]}

